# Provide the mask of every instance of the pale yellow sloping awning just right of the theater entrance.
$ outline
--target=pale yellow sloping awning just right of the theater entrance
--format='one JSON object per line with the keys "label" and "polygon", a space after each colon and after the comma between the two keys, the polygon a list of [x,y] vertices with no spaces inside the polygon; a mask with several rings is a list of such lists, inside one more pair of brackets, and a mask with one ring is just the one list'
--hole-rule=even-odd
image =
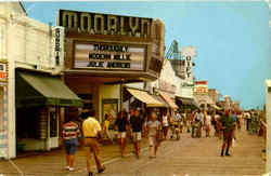
{"label": "pale yellow sloping awning just right of the theater entrance", "polygon": [[134,89],[127,89],[127,91],[140,101],[146,104],[147,107],[165,107],[165,105],[162,101],[154,98],[145,91],[134,90]]}

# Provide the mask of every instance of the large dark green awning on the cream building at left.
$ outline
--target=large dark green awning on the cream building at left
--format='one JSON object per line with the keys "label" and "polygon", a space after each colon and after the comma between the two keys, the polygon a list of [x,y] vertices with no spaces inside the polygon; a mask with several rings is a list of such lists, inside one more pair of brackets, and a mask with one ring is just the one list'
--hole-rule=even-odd
{"label": "large dark green awning on the cream building at left", "polygon": [[82,100],[59,77],[17,71],[15,79],[16,107],[73,106],[82,107]]}

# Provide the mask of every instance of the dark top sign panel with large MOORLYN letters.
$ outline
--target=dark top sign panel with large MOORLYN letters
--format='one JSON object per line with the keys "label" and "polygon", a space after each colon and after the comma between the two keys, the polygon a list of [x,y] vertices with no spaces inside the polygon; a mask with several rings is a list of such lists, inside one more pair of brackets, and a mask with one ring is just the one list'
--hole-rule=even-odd
{"label": "dark top sign panel with large MOORLYN letters", "polygon": [[66,31],[150,38],[153,19],[60,10],[57,22]]}

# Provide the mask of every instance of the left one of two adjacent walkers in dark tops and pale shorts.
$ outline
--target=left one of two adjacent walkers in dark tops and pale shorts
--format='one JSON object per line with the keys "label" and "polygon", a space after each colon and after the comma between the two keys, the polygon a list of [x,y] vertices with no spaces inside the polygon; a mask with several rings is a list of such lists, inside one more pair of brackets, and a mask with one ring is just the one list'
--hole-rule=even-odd
{"label": "left one of two adjacent walkers in dark tops and pale shorts", "polygon": [[118,131],[118,144],[119,144],[119,150],[120,150],[120,155],[124,157],[125,153],[125,147],[126,147],[126,132],[128,130],[128,117],[127,112],[125,110],[121,110],[118,116],[117,120],[115,122],[115,126],[117,127]]}

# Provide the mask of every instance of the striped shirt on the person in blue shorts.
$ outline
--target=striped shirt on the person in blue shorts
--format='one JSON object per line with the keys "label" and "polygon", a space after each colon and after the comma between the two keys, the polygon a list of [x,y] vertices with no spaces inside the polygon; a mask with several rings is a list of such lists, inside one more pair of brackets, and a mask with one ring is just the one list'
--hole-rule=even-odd
{"label": "striped shirt on the person in blue shorts", "polygon": [[65,140],[77,138],[77,136],[80,136],[79,126],[75,122],[67,122],[63,125],[62,134]]}

